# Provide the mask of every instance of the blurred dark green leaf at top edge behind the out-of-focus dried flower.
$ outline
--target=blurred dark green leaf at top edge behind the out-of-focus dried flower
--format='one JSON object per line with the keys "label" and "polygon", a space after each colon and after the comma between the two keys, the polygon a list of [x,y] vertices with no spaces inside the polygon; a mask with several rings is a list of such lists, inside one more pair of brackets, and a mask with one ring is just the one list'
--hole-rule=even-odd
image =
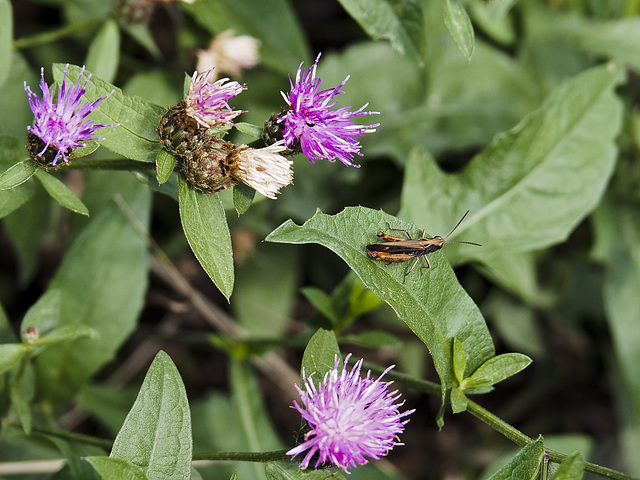
{"label": "blurred dark green leaf at top edge behind the out-of-focus dried flower", "polygon": [[260,40],[260,60],[279,73],[309,58],[307,39],[286,0],[217,0],[182,5],[212,35],[233,29]]}

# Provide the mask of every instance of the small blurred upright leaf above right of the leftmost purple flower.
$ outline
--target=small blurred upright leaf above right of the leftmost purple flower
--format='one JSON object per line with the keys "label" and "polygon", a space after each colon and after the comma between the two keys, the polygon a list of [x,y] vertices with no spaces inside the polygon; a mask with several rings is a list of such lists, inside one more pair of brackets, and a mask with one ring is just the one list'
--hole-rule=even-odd
{"label": "small blurred upright leaf above right of the leftmost purple flower", "polygon": [[118,23],[113,19],[108,19],[98,34],[93,38],[85,65],[87,69],[95,75],[105,80],[113,82],[120,63],[120,30]]}

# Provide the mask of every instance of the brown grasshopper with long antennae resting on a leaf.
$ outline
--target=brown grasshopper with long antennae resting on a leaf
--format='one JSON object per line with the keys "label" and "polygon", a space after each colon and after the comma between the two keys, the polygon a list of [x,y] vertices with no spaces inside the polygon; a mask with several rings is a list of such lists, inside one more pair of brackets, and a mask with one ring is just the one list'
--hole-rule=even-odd
{"label": "brown grasshopper with long antennae resting on a leaf", "polygon": [[426,267],[420,267],[420,273],[422,273],[423,268],[431,268],[431,263],[427,258],[427,254],[440,250],[446,243],[466,243],[468,245],[477,245],[478,247],[482,246],[479,243],[474,242],[447,242],[447,238],[449,238],[451,234],[456,231],[456,228],[458,228],[458,226],[462,223],[462,220],[465,219],[468,213],[469,210],[465,212],[460,221],[456,224],[455,227],[453,227],[453,230],[451,230],[449,234],[444,238],[440,235],[433,238],[426,238],[426,229],[422,231],[422,238],[412,238],[411,234],[408,231],[402,230],[401,228],[391,228],[391,225],[389,225],[389,222],[387,222],[387,227],[389,227],[389,230],[404,232],[406,233],[407,237],[409,237],[409,239],[398,237],[395,235],[389,235],[384,232],[378,232],[378,238],[381,238],[382,240],[384,240],[384,242],[372,243],[370,245],[367,245],[369,256],[375,260],[385,260],[389,262],[387,263],[387,265],[391,265],[392,263],[406,262],[408,260],[411,260],[412,258],[415,258],[416,261],[413,262],[413,265],[411,266],[409,271],[404,275],[404,280],[402,283],[405,283],[407,281],[407,276],[413,271],[414,268],[416,268],[420,257],[424,257],[424,259],[427,261]]}

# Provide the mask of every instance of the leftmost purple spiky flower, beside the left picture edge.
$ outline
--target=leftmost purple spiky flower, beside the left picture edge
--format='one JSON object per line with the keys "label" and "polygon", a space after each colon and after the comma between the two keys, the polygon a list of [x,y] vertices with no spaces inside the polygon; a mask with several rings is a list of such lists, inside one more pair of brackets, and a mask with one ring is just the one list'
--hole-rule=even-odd
{"label": "leftmost purple spiky flower, beside the left picture edge", "polygon": [[93,102],[82,104],[81,99],[91,75],[87,77],[84,84],[81,83],[82,74],[84,73],[84,67],[82,67],[78,82],[70,82],[67,85],[68,68],[69,64],[64,69],[64,79],[58,91],[56,103],[54,103],[53,94],[49,90],[49,86],[44,81],[44,68],[40,70],[42,100],[31,91],[31,88],[27,86],[27,82],[24,83],[24,89],[29,96],[29,106],[35,116],[33,125],[27,127],[27,130],[44,143],[44,148],[41,151],[32,151],[31,153],[35,157],[41,157],[49,147],[52,147],[56,150],[52,161],[53,165],[56,164],[60,156],[67,163],[71,151],[76,147],[84,146],[80,142],[104,140],[104,138],[96,138],[94,136],[98,128],[117,126],[95,124],[91,120],[85,120],[98,104],[113,92]]}

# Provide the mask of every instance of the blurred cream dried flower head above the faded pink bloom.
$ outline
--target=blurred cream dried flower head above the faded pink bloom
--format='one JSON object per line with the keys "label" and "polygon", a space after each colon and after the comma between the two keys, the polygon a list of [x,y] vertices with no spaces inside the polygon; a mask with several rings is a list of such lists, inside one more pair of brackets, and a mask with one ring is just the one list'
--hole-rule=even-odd
{"label": "blurred cream dried flower head above the faded pink bloom", "polygon": [[[197,69],[199,72],[209,70],[212,74],[224,72],[232,77],[239,77],[243,69],[253,68],[260,62],[259,46],[257,38],[249,35],[236,36],[233,30],[225,30],[213,38],[206,50],[198,50]],[[210,77],[209,80],[213,81],[215,77]]]}

